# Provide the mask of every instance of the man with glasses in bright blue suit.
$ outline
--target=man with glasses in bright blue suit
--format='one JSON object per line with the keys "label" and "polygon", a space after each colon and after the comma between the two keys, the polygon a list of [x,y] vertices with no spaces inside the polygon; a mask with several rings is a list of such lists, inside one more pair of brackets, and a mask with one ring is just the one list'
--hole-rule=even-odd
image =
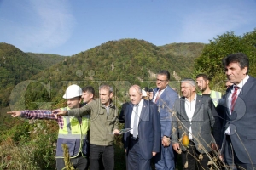
{"label": "man with glasses in bright blue suit", "polygon": [[178,94],[168,85],[169,80],[170,73],[168,71],[160,71],[158,73],[157,88],[154,88],[154,98],[152,100],[158,106],[161,126],[161,147],[160,153],[154,157],[155,167],[156,169],[165,170],[175,169],[175,156],[171,144],[171,115],[174,102],[178,99]]}

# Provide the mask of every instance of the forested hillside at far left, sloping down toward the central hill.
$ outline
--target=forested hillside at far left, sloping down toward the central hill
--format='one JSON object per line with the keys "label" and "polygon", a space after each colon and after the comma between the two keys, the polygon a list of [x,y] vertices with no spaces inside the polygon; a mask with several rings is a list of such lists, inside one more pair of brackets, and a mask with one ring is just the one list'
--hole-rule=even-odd
{"label": "forested hillside at far left, sloping down toward the central hill", "polygon": [[13,45],[0,43],[0,107],[9,105],[10,91],[17,83],[55,65],[61,59],[64,60],[52,54],[26,54]]}

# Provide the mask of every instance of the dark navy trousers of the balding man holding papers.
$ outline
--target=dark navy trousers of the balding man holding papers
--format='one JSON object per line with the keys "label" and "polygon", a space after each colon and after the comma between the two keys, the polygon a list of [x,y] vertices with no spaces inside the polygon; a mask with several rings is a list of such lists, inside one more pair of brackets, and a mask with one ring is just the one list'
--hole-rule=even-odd
{"label": "dark navy trousers of the balding man holding papers", "polygon": [[148,170],[150,167],[150,159],[145,160],[142,157],[139,146],[139,139],[130,138],[127,155],[127,170]]}

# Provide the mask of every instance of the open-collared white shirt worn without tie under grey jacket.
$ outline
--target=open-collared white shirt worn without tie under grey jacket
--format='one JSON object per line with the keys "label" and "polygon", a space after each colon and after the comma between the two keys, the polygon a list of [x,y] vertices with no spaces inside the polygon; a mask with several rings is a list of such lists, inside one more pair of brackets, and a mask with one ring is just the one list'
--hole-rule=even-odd
{"label": "open-collared white shirt worn without tie under grey jacket", "polygon": [[189,139],[192,140],[192,128],[191,128],[191,121],[192,117],[195,113],[195,103],[196,103],[196,94],[195,98],[190,102],[189,99],[185,98],[185,111],[187,113],[187,116],[189,117],[190,127],[189,127]]}

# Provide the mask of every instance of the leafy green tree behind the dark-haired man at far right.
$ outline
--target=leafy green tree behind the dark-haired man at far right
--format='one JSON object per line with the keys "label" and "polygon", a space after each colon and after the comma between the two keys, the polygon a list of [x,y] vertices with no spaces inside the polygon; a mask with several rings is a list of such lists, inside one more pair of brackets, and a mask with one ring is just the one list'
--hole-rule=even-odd
{"label": "leafy green tree behind the dark-haired man at far right", "polygon": [[[243,36],[236,36],[233,31],[226,32],[210,41],[205,46],[199,58],[195,59],[195,72],[202,71],[212,78],[211,86],[214,89],[222,90],[224,87],[224,68],[222,59],[234,53],[247,54],[250,59],[249,74],[256,76],[256,29]],[[194,75],[195,75],[194,72]]]}

